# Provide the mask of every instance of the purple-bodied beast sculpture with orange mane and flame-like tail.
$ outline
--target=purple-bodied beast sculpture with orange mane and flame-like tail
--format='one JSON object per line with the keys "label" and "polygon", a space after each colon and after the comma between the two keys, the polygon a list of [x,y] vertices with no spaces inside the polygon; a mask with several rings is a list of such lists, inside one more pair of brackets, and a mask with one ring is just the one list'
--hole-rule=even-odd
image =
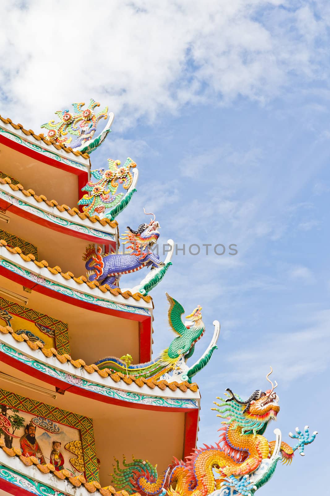
{"label": "purple-bodied beast sculpture with orange mane and flame-like tail", "polygon": [[86,261],[85,267],[89,271],[88,279],[90,282],[97,281],[99,284],[108,284],[110,288],[116,288],[116,282],[122,274],[129,274],[150,267],[155,269],[163,267],[165,264],[151,250],[156,245],[159,238],[159,223],[153,219],[149,224],[140,224],[138,229],[134,231],[127,226],[128,231],[125,232],[121,239],[125,240],[123,245],[129,243],[127,247],[131,250],[130,253],[102,253],[102,248],[98,247],[95,252],[94,246],[89,246],[84,253],[83,260]]}

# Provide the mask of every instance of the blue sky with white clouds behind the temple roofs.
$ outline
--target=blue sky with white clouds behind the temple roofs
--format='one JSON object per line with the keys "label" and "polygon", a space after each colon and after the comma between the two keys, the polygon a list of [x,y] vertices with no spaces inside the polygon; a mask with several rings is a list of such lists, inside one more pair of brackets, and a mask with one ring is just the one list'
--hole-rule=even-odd
{"label": "blue sky with white clouds behind the temple roofs", "polygon": [[[219,350],[196,376],[198,443],[217,440],[212,401],[278,381],[283,439],[308,424],[319,436],[279,466],[258,494],[324,491],[329,409],[329,24],[318,1],[31,1],[1,5],[1,115],[38,130],[73,101],[115,112],[93,153],[139,166],[122,230],[160,222],[160,242],[231,243],[230,256],[178,254],[152,292],[155,353],[172,338],[165,291],[203,307],[202,353],[221,323]],[[93,16],[92,16],[93,14]],[[74,28],[74,29],[73,29]],[[56,59],[59,57],[60,59]],[[122,286],[130,286],[128,278]],[[133,285],[133,284],[132,284]],[[327,394],[328,393],[328,394]],[[161,426],[159,426],[161,429]],[[272,429],[268,438],[273,439]],[[138,456],[138,454],[137,454]],[[156,463],[157,460],[151,460]],[[319,479],[319,475],[321,475]]]}

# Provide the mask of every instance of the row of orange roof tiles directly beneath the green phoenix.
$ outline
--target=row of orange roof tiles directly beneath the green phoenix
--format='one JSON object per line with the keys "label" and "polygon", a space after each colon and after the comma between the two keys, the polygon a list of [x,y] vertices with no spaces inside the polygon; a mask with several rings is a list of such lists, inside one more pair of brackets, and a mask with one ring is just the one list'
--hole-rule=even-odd
{"label": "row of orange roof tiles directly beneath the green phoenix", "polygon": [[[0,332],[2,334],[10,334],[11,337],[18,342],[23,342],[25,341],[26,344],[32,349],[32,350],[41,350],[43,354],[45,355],[46,358],[50,357],[55,357],[61,364],[66,364],[69,362],[73,367],[76,369],[80,369],[83,367],[86,372],[93,374],[94,372],[97,372],[98,375],[100,375],[103,378],[110,377],[114,382],[120,382],[121,380],[125,382],[125,384],[132,384],[134,382],[137,386],[142,387],[144,384],[148,386],[150,389],[154,389],[155,387],[158,387],[162,391],[165,391],[165,389],[168,387],[171,389],[171,391],[176,391],[178,388],[180,391],[183,393],[187,392],[188,390],[192,392],[197,392],[198,386],[195,382],[189,384],[188,381],[185,382],[168,382],[167,380],[156,380],[154,378],[150,379],[145,379],[144,377],[139,377],[136,378],[133,375],[124,375],[121,372],[111,372],[109,369],[103,369],[99,370],[97,365],[92,364],[92,365],[86,365],[85,361],[82,359],[78,360],[72,360],[71,356],[68,355],[67,353],[64,353],[64,355],[59,355],[58,352],[55,350],[55,348],[45,348],[43,343],[41,341],[31,341],[29,337],[22,333],[22,334],[16,334],[14,330],[6,325],[3,327],[0,325]],[[73,370],[74,372],[74,370]]]}

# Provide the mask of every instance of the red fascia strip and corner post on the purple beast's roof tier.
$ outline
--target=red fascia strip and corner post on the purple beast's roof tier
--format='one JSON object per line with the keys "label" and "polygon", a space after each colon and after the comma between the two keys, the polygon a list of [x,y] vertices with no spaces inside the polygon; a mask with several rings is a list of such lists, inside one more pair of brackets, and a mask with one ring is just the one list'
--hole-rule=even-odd
{"label": "red fascia strip and corner post on the purple beast's roof tier", "polygon": [[64,303],[74,305],[75,307],[84,308],[86,310],[92,310],[97,313],[105,313],[107,315],[113,315],[120,318],[125,318],[129,320],[138,320],[140,322],[140,356],[139,361],[141,363],[149,362],[151,360],[151,333],[152,333],[152,323],[150,315],[140,315],[137,313],[130,313],[120,310],[113,310],[104,308],[98,305],[93,305],[92,303],[83,302],[81,300],[74,300],[72,297],[65,295],[63,293],[58,293],[50,288],[42,286],[41,284],[36,284],[33,281],[11,272],[10,270],[0,267],[0,275],[16,282],[20,286],[25,286],[27,288],[33,289],[37,293],[41,293],[50,298],[55,298],[56,300],[61,300]]}

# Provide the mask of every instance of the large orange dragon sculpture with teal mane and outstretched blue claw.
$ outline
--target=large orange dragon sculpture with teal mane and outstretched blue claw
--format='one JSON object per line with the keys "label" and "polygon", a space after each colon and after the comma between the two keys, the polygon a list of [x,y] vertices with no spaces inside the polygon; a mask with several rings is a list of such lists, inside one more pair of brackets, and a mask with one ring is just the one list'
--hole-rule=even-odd
{"label": "large orange dragon sculpture with teal mane and outstretched blue claw", "polygon": [[281,432],[276,429],[276,440],[268,441],[265,430],[280,411],[279,397],[274,391],[277,384],[271,384],[271,389],[258,389],[245,401],[231,389],[225,393],[227,399],[217,398],[220,402],[215,402],[217,408],[212,410],[224,419],[224,427],[219,429],[220,439],[215,446],[195,449],[186,461],[174,458],[159,477],[156,466],[147,461],[133,458],[133,462],[127,463],[124,458],[122,469],[115,459],[114,484],[143,496],[252,496],[269,481],[280,459],[284,464],[291,463],[296,450],[304,455],[305,445],[313,442],[317,434],[309,434],[308,426],[304,432],[296,428],[296,434],[289,436],[297,443],[290,447],[281,442]]}

